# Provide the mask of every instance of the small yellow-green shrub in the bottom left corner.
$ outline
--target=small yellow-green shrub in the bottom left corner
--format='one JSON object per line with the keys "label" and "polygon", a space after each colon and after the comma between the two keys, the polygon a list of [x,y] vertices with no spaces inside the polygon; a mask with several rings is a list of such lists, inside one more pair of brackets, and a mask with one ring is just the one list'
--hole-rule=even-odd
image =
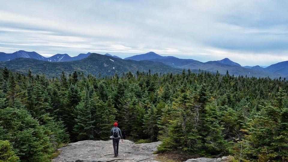
{"label": "small yellow-green shrub in the bottom left corner", "polygon": [[0,140],[0,162],[17,162],[19,157],[16,156],[13,147],[9,141]]}

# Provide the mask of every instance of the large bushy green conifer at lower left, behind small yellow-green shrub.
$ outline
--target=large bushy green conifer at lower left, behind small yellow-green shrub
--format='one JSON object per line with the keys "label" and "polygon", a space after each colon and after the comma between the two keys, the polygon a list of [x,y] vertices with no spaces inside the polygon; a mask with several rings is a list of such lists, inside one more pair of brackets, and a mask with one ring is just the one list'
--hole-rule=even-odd
{"label": "large bushy green conifer at lower left, behind small yellow-green shrub", "polygon": [[21,161],[49,161],[53,149],[47,130],[26,110],[9,107],[1,109],[0,122],[0,140],[13,143]]}

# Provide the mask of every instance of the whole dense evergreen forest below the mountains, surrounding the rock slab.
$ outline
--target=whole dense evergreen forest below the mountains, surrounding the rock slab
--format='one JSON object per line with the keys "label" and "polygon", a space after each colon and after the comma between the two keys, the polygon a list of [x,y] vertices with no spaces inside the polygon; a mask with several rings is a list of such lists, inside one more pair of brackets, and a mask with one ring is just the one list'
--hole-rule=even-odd
{"label": "whole dense evergreen forest below the mountains, surrounding the rock slab", "polygon": [[0,159],[49,161],[65,143],[109,140],[117,120],[131,140],[161,140],[158,152],[288,160],[285,79],[190,70],[49,79],[1,69],[0,87],[0,151],[8,152]]}

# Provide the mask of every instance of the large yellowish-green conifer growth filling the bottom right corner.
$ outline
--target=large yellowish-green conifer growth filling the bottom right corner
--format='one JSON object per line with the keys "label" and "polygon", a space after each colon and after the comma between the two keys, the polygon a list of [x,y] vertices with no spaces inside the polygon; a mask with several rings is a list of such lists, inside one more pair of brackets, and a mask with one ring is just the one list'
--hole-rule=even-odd
{"label": "large yellowish-green conifer growth filling the bottom right corner", "polygon": [[276,94],[275,105],[261,106],[255,118],[249,122],[246,138],[243,141],[243,154],[240,159],[256,161],[288,160],[288,103],[283,90]]}

